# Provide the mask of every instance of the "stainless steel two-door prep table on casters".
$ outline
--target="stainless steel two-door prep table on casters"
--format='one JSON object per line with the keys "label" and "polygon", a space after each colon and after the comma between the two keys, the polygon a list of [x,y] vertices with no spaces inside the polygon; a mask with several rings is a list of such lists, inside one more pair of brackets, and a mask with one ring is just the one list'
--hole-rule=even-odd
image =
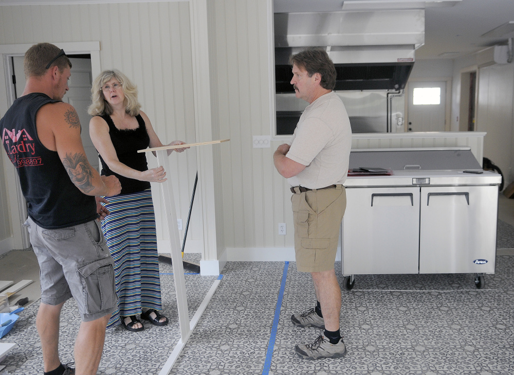
{"label": "stainless steel two-door prep table on casters", "polygon": [[[390,176],[348,176],[342,222],[343,288],[357,274],[494,273],[498,185],[469,148],[352,151],[350,168]],[[481,173],[465,173],[472,170]]]}

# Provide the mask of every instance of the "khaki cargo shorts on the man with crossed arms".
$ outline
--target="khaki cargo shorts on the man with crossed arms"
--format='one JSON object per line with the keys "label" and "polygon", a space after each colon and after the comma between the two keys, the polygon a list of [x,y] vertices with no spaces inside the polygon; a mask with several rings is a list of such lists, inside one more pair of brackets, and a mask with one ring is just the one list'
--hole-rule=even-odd
{"label": "khaki cargo shorts on the man with crossed arms", "polygon": [[291,203],[298,271],[334,269],[339,230],[346,208],[344,186],[295,193]]}

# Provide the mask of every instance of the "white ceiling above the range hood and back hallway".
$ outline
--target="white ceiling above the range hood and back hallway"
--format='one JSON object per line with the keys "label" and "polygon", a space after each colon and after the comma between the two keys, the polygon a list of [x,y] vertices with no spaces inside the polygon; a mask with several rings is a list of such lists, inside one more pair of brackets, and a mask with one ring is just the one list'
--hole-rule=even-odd
{"label": "white ceiling above the range hood and back hallway", "polygon": [[[341,11],[342,4],[342,0],[274,0],[274,11]],[[508,38],[514,38],[514,31],[495,38],[481,35],[510,21],[514,21],[514,0],[462,0],[452,7],[427,6],[425,45],[416,50],[416,60],[455,59],[506,44]]]}

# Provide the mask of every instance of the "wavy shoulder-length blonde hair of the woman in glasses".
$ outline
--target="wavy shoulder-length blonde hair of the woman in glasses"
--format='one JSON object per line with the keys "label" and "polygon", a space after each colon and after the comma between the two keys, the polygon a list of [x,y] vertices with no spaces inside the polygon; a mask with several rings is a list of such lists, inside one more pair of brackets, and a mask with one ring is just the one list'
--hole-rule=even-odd
{"label": "wavy shoulder-length blonde hair of the woman in glasses", "polygon": [[125,95],[125,100],[123,101],[125,112],[131,116],[137,116],[141,108],[141,104],[137,101],[137,87],[127,76],[117,69],[104,70],[95,79],[91,87],[91,100],[93,103],[89,105],[87,113],[91,116],[113,114],[113,107],[105,100],[102,91],[102,86],[113,78],[121,83],[121,90],[123,90],[123,94]]}

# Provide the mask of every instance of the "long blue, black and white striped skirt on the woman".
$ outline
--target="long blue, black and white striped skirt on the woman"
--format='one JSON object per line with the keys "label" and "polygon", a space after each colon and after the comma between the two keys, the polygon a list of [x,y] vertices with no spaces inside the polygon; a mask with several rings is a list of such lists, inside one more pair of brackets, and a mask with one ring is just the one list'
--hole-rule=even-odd
{"label": "long blue, black and white striped skirt on the woman", "polygon": [[151,189],[105,198],[110,213],[102,231],[114,259],[118,296],[118,309],[107,323],[112,328],[120,316],[140,314],[141,308],[162,310],[162,305]]}

